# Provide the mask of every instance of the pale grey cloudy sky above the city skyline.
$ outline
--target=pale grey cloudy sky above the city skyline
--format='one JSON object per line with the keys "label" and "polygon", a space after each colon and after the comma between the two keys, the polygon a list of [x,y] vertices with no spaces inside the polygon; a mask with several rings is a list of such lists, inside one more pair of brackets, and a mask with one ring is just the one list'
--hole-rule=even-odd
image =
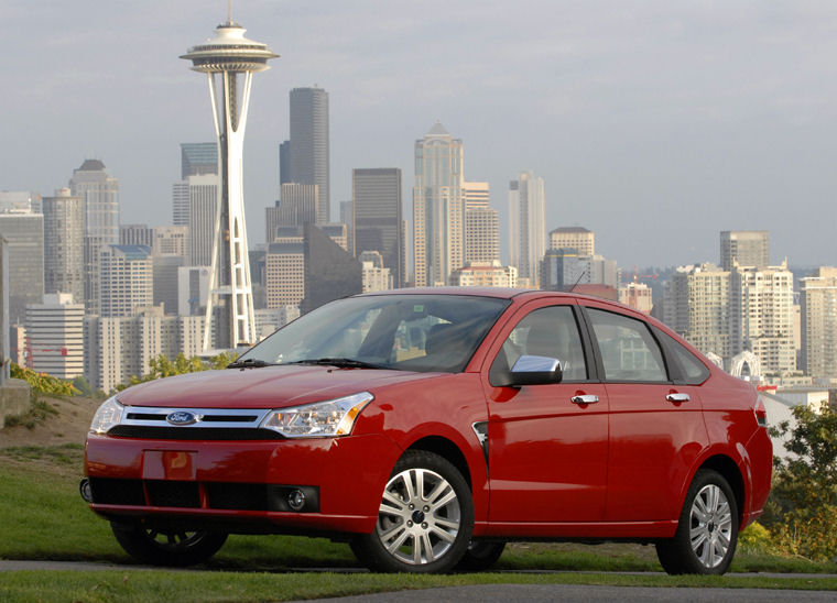
{"label": "pale grey cloudy sky above the city skyline", "polygon": [[[17,119],[0,189],[50,196],[84,158],[100,158],[120,180],[122,221],[169,223],[180,144],[211,139],[193,110],[205,91],[172,57],[222,20],[225,3],[186,0],[164,19],[146,7],[93,7],[6,3],[15,48],[2,59],[14,90],[7,114]],[[615,7],[463,2],[439,25],[432,10],[402,2],[328,12],[237,3],[233,19],[258,23],[285,57],[252,107],[250,221],[275,200],[289,90],[319,86],[330,96],[333,213],[351,198],[352,168],[401,167],[411,183],[412,143],[441,119],[465,143],[468,177],[490,183],[501,224],[508,182],[533,169],[547,230],[590,228],[622,266],[713,260],[720,230],[769,230],[772,263],[834,263],[830,221],[815,218],[835,193],[837,8]],[[420,51],[422,36],[435,45]],[[29,64],[11,57],[21,53]],[[260,231],[250,238],[261,242]]]}

